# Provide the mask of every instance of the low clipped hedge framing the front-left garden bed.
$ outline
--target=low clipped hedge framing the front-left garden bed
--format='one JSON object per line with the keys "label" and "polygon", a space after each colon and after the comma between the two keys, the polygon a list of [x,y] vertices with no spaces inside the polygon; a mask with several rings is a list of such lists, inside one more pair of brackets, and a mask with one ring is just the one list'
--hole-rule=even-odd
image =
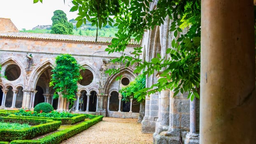
{"label": "low clipped hedge framing the front-left garden bed", "polygon": [[[45,119],[35,119],[35,118],[11,118],[11,117],[0,117],[2,121],[5,122],[16,122],[16,123],[30,123],[39,124],[34,125],[30,128],[24,128],[22,130],[6,130],[0,129],[0,141],[11,142],[16,139],[32,139],[33,137],[44,135],[49,132],[58,130],[61,126],[60,121],[45,120]],[[34,122],[33,122],[34,121]]]}

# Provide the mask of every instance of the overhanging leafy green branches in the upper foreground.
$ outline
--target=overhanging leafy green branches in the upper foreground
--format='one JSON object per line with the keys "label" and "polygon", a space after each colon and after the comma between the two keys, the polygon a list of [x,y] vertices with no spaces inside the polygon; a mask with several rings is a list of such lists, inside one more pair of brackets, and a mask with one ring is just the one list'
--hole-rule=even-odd
{"label": "overhanging leafy green branches in the upper foreground", "polygon": [[[156,4],[153,9],[150,8],[150,2]],[[119,28],[116,38],[106,49],[109,53],[122,53],[130,39],[140,42],[145,30],[161,26],[167,17],[171,19],[170,31],[174,38],[164,58],[158,53],[156,58],[144,61],[139,58],[143,48],[136,47],[133,56],[123,53],[112,62],[121,62],[126,67],[136,64],[134,72],[144,71],[147,77],[161,72],[156,84],[144,88],[144,95],[170,89],[174,95],[189,92],[191,100],[199,98],[196,88],[200,83],[201,0],[72,0],[72,3],[74,6],[70,11],[77,11],[79,15],[75,19],[77,28],[86,20],[97,28],[107,23]],[[119,70],[109,69],[107,73],[115,74]]]}

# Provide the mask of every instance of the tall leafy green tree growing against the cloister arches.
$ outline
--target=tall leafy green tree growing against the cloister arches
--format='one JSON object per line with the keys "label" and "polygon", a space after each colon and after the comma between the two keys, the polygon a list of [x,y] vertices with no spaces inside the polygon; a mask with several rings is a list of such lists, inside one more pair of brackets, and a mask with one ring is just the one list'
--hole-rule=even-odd
{"label": "tall leafy green tree growing against the cloister arches", "polygon": [[63,98],[74,101],[77,91],[77,81],[82,79],[79,70],[82,67],[77,60],[69,54],[61,54],[56,57],[56,67],[51,75],[50,86],[55,89],[54,98],[58,98],[58,92],[61,92]]}

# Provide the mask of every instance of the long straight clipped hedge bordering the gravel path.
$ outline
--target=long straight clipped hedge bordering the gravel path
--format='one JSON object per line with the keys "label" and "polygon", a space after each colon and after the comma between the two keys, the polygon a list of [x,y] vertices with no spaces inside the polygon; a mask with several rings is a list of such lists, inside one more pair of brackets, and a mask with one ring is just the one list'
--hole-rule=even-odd
{"label": "long straight clipped hedge bordering the gravel path", "polygon": [[65,130],[61,130],[59,132],[55,132],[54,134],[48,135],[42,139],[35,140],[14,140],[10,144],[59,144],[65,139],[68,139],[81,131],[86,130],[91,127],[95,123],[102,121],[103,116],[96,116],[95,118],[84,121],[83,123],[79,123],[78,125],[74,125]]}

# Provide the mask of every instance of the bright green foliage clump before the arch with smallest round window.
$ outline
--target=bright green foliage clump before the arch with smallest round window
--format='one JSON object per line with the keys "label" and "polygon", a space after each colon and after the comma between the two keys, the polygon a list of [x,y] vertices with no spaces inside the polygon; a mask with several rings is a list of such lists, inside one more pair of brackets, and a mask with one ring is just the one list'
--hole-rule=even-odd
{"label": "bright green foliage clump before the arch with smallest round window", "polygon": [[130,101],[130,98],[137,100],[137,102],[144,102],[145,95],[143,95],[140,90],[146,86],[146,77],[144,75],[139,75],[134,81],[126,87],[123,87],[119,93],[123,96],[123,101]]}

